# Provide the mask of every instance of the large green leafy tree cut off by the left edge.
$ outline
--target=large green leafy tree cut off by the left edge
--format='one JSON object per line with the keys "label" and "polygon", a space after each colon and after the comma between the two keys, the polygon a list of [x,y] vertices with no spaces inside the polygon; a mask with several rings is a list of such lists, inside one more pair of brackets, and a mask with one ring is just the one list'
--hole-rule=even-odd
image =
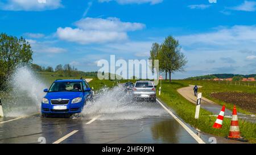
{"label": "large green leafy tree cut off by the left edge", "polygon": [[23,38],[0,34],[0,87],[4,89],[7,77],[14,72],[19,64],[30,64],[32,61],[32,49]]}

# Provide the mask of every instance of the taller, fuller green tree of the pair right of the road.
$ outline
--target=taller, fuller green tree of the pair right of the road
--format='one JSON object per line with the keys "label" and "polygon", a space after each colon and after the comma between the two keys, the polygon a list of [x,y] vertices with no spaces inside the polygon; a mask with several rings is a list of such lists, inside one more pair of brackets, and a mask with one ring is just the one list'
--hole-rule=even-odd
{"label": "taller, fuller green tree of the pair right of the road", "polygon": [[169,73],[169,80],[171,82],[171,74],[178,71],[183,71],[187,60],[183,53],[178,40],[174,37],[168,36],[162,44],[159,52],[160,69]]}

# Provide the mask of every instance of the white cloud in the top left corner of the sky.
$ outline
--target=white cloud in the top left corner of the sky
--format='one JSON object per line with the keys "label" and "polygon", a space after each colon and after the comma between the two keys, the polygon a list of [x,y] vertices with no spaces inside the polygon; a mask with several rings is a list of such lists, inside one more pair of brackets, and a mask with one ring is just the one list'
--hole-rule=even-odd
{"label": "white cloud in the top left corner of the sky", "polygon": [[7,0],[6,2],[0,2],[1,10],[10,11],[42,11],[42,10],[54,10],[61,5],[61,0],[46,0],[46,3],[39,3],[38,0]]}

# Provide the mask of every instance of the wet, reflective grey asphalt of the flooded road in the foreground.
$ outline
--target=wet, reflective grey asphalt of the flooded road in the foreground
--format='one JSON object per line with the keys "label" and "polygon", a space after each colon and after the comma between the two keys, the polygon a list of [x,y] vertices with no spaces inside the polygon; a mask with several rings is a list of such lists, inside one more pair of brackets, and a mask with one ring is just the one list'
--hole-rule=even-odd
{"label": "wet, reflective grey asphalt of the flooded road in the foreground", "polygon": [[[37,114],[0,124],[0,143],[54,143],[75,130],[75,134],[61,143],[197,143],[158,103],[145,103],[145,106],[163,110],[163,115],[134,120],[98,118],[86,124],[92,120],[91,116],[41,118]],[[8,119],[11,118],[5,120]]]}

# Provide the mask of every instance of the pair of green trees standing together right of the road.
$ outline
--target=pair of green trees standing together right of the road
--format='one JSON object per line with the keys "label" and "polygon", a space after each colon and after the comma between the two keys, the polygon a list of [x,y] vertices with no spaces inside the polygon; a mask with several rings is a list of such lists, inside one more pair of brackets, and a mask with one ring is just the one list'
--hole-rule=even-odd
{"label": "pair of green trees standing together right of the road", "polygon": [[168,36],[162,44],[153,43],[150,50],[150,60],[155,68],[154,60],[159,60],[159,72],[167,74],[171,82],[171,75],[175,72],[184,71],[184,66],[187,64],[185,55],[181,52],[179,40],[173,36]]}

